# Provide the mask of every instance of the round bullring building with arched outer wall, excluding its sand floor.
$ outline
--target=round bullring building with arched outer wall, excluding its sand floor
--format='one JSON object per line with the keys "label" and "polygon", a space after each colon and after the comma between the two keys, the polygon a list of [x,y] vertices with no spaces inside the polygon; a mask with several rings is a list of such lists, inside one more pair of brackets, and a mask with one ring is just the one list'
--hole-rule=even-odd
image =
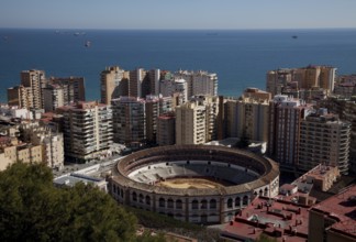
{"label": "round bullring building with arched outer wall, excluding its sand floor", "polygon": [[[229,182],[215,188],[168,188],[158,179],[209,178]],[[229,222],[255,196],[278,195],[275,162],[222,146],[173,145],[144,150],[121,160],[109,191],[121,204],[193,223]]]}

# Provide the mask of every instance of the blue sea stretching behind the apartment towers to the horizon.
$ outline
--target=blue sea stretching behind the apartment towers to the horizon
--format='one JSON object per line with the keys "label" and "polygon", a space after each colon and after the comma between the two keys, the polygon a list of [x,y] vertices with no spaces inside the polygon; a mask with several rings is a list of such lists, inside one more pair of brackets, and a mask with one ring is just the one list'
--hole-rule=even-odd
{"label": "blue sea stretching behind the apartment towers to the horizon", "polygon": [[[79,33],[79,34],[75,34]],[[292,36],[298,36],[293,38]],[[266,72],[331,65],[356,74],[356,29],[341,30],[0,30],[0,101],[20,84],[20,73],[80,76],[87,100],[100,99],[100,72],[119,65],[216,73],[219,94],[265,89]],[[90,47],[85,43],[90,41]]]}

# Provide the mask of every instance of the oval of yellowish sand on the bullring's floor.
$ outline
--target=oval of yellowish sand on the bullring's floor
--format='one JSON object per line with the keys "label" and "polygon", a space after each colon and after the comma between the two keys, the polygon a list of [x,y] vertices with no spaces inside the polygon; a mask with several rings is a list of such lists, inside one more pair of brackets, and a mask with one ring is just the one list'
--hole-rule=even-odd
{"label": "oval of yellowish sand on the bullring's floor", "polygon": [[162,180],[155,184],[156,186],[179,188],[179,189],[201,189],[201,188],[218,188],[222,186],[229,186],[231,184],[212,182],[204,178],[173,178]]}

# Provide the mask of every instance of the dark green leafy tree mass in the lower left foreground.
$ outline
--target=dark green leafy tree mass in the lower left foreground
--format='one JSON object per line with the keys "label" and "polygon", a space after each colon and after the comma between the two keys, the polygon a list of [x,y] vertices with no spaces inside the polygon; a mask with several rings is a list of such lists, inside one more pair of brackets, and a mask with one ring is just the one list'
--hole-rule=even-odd
{"label": "dark green leafy tree mass in the lower left foreground", "polygon": [[0,241],[135,241],[135,229],[136,218],[98,188],[55,188],[43,164],[0,173]]}

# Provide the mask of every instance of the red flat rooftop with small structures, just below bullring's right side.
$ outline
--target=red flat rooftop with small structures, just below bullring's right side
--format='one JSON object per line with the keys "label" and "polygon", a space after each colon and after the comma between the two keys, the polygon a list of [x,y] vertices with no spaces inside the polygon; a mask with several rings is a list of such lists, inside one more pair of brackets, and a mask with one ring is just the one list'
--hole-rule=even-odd
{"label": "red flat rooftop with small structures, just below bullring's right side", "polygon": [[235,239],[257,239],[262,233],[275,232],[277,241],[307,241],[309,211],[308,207],[298,206],[285,200],[255,198],[242,210],[222,234]]}

